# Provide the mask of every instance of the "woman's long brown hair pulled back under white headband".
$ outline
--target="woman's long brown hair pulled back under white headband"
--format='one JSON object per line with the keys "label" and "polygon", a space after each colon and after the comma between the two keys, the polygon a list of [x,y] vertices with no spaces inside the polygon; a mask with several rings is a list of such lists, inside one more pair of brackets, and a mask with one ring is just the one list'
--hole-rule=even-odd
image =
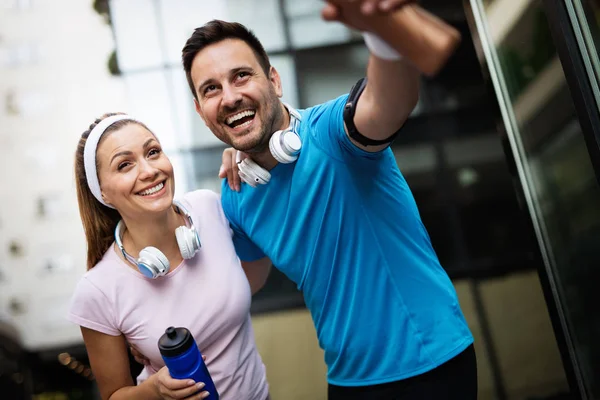
{"label": "woman's long brown hair pulled back under white headband", "polygon": [[[85,176],[85,165],[83,160],[83,150],[88,136],[92,132],[92,129],[104,118],[123,114],[123,113],[108,113],[104,114],[101,118],[98,118],[90,125],[89,129],[81,134],[79,143],[77,144],[77,150],[75,151],[75,185],[77,187],[77,203],[79,204],[79,216],[83,224],[83,230],[85,232],[85,238],[87,243],[87,269],[92,268],[96,265],[104,256],[104,253],[109,249],[114,241],[114,230],[117,223],[121,219],[121,215],[115,209],[106,207],[101,204],[92,192],[87,183]],[[137,121],[122,120],[112,124],[109,128],[104,131],[100,143],[107,136],[108,133],[119,130],[120,128],[137,123],[144,128],[144,124]],[[147,129],[147,128],[146,128]],[[98,163],[96,162],[96,168]]]}

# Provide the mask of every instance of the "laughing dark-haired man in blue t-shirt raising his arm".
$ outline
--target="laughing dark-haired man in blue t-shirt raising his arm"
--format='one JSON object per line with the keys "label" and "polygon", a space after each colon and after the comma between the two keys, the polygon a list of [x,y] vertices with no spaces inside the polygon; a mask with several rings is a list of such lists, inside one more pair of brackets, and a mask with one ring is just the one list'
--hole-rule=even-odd
{"label": "laughing dark-haired man in blue t-shirt raising his arm", "polygon": [[[327,4],[324,15],[363,31],[389,18],[361,14],[360,3]],[[230,173],[223,210],[251,286],[273,264],[302,290],[330,399],[474,399],[473,337],[388,147],[419,76],[377,36],[365,41],[367,79],[296,111],[244,26],[195,30],[182,58],[196,110],[250,156],[235,153],[247,184]]]}

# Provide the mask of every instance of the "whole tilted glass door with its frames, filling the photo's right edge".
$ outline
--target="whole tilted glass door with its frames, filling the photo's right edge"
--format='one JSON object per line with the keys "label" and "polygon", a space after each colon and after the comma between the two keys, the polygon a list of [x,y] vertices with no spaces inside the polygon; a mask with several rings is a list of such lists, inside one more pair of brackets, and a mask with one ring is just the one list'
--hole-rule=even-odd
{"label": "whole tilted glass door with its frames, filling the photo's right edge", "polygon": [[573,398],[600,398],[600,7],[465,0],[545,270]]}

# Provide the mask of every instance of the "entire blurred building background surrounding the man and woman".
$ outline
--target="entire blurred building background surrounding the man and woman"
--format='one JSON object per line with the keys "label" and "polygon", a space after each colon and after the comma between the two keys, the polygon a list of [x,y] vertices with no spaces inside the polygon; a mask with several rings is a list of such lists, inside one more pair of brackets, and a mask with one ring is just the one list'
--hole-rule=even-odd
{"label": "entire blurred building background surrounding the man and woman", "polygon": [[[195,27],[253,29],[299,108],[347,92],[368,52],[320,19],[320,0],[0,4],[0,397],[94,399],[79,328],[65,319],[85,272],[80,134],[105,112],[136,115],[165,145],[179,193],[219,191],[224,145],[195,114],[180,64]],[[421,4],[463,42],[423,79],[392,148],[475,335],[480,399],[600,398],[600,8]],[[325,399],[310,315],[276,270],[253,324],[272,398]]]}

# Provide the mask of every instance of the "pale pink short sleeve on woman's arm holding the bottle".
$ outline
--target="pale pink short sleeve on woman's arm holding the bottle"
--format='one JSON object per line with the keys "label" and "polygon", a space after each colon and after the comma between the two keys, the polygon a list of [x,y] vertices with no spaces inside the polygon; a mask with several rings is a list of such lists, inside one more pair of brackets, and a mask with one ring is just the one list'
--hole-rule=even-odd
{"label": "pale pink short sleeve on woman's arm holding the bottle", "polygon": [[68,320],[111,336],[119,336],[113,305],[106,295],[87,277],[83,277],[71,298]]}

